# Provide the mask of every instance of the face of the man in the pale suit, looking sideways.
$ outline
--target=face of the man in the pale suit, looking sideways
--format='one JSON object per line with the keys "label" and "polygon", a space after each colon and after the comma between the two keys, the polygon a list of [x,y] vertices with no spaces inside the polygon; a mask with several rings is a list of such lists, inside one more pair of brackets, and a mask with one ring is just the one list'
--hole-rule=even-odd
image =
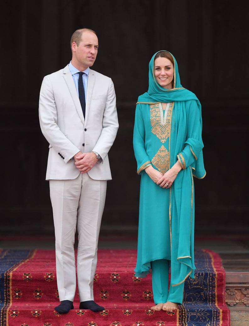
{"label": "face of the man in the pale suit, looking sideways", "polygon": [[96,34],[91,31],[84,31],[79,46],[73,42],[72,50],[77,65],[84,67],[84,69],[92,67],[98,53],[98,38]]}

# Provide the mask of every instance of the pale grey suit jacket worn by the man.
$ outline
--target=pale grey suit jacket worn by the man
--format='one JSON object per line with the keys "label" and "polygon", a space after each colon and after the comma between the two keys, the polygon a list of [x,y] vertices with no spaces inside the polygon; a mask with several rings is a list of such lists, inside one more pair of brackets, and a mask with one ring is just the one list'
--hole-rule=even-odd
{"label": "pale grey suit jacket worn by the man", "polygon": [[87,172],[92,179],[111,179],[108,152],[116,138],[118,117],[109,77],[89,69],[84,120],[68,66],[45,76],[40,89],[39,121],[50,144],[46,180],[77,178],[80,171],[73,156],[79,151],[95,151],[103,159]]}

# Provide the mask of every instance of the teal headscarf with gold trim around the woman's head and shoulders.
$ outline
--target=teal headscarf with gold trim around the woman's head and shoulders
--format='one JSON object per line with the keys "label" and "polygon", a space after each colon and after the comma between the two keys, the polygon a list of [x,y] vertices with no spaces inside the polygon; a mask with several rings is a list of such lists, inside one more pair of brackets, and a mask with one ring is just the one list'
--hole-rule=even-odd
{"label": "teal headscarf with gold trim around the woman's head and shoulders", "polygon": [[[161,51],[168,52],[166,50],[161,50]],[[148,92],[138,97],[138,103],[156,103],[156,102],[168,103],[168,102],[186,101],[186,100],[198,101],[198,98],[194,93],[187,90],[186,88],[183,88],[183,86],[181,85],[176,59],[170,52],[168,53],[172,56],[174,60],[174,86],[172,89],[165,89],[158,84],[154,76],[154,58],[158,52],[156,52],[153,55],[151,61],[149,62]]]}

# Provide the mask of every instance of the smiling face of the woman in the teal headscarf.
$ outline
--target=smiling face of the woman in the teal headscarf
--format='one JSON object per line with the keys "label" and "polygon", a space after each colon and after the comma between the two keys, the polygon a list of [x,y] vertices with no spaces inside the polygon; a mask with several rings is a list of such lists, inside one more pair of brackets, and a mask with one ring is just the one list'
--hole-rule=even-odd
{"label": "smiling face of the woman in the teal headscarf", "polygon": [[164,57],[156,58],[154,61],[154,76],[161,87],[173,88],[174,67],[172,62]]}

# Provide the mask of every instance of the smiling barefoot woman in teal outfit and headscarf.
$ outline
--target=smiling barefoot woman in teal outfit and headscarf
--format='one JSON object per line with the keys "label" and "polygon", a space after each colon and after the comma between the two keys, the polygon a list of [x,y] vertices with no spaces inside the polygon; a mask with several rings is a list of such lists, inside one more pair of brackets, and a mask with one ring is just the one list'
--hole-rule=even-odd
{"label": "smiling barefoot woman in teal outfit and headscarf", "polygon": [[138,98],[133,135],[141,175],[135,276],[151,270],[152,310],[177,309],[186,277],[194,278],[193,176],[206,175],[201,132],[198,98],[182,87],[173,55],[156,52],[148,92]]}

